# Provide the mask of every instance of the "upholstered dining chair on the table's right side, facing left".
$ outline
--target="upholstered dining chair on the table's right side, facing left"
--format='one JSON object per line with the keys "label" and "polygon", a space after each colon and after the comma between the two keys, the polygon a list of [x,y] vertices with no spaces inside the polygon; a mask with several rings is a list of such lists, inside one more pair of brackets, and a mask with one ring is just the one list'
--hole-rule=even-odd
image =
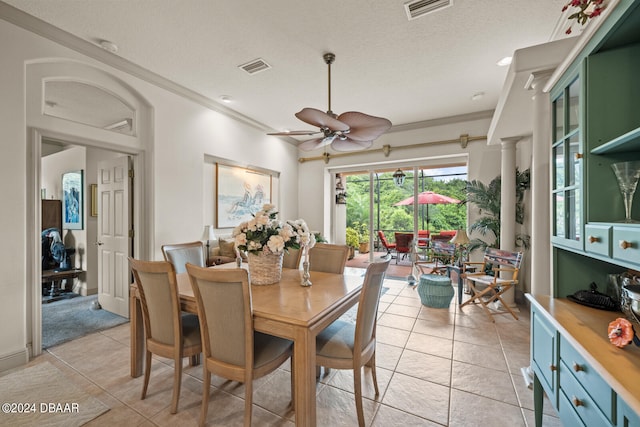
{"label": "upholstered dining chair on the table's right side, facing left", "polygon": [[364,426],[362,409],[362,367],[371,367],[376,396],[376,320],[384,276],[390,260],[369,264],[358,302],[356,322],[339,318],[316,337],[316,364],[335,369],[352,369],[358,425]]}

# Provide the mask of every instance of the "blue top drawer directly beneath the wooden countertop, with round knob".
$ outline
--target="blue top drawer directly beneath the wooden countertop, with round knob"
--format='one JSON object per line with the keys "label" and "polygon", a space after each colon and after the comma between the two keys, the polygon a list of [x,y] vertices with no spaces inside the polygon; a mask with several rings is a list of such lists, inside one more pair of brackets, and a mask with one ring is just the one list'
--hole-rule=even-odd
{"label": "blue top drawer directly beneath the wooden countertop, with round knob", "polygon": [[[563,336],[560,336],[560,360],[560,388],[569,387],[572,384],[569,380],[580,384],[584,390],[588,390],[590,405],[595,405],[608,420],[612,420],[615,394],[611,387]],[[566,394],[572,398],[569,393]],[[580,400],[587,399],[585,396],[576,396]],[[577,411],[580,412],[579,409]]]}

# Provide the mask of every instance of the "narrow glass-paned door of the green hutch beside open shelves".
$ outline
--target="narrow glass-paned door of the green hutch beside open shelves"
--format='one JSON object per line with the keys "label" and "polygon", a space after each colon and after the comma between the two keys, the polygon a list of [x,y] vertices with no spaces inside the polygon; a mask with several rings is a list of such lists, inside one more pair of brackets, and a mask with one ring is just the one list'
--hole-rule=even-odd
{"label": "narrow glass-paned door of the green hutch beside open shelves", "polygon": [[583,225],[580,90],[576,78],[552,98],[552,241],[575,248]]}

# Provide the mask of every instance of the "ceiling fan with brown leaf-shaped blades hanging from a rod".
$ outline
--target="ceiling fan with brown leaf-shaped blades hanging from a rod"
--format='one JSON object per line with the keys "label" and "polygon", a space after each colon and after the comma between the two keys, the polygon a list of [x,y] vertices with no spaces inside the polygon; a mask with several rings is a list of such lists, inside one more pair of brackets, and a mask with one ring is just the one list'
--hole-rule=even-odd
{"label": "ceiling fan with brown leaf-shaped blades hanging from a rod", "polygon": [[357,151],[371,147],[373,141],[391,127],[391,122],[382,117],[374,117],[356,111],[348,111],[339,116],[331,111],[331,64],[336,56],[333,53],[325,53],[323,58],[329,68],[329,108],[326,113],[316,108],[303,108],[295,114],[298,119],[317,126],[320,130],[275,132],[269,135],[321,134],[320,137],[304,141],[298,146],[307,151],[329,144],[336,151]]}

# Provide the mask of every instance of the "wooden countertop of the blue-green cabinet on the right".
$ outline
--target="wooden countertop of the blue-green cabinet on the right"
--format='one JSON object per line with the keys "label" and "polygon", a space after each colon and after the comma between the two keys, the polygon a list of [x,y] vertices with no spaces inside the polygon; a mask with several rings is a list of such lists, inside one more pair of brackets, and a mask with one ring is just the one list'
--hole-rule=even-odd
{"label": "wooden countertop of the blue-green cabinet on the right", "polygon": [[[618,348],[609,342],[607,328],[621,312],[585,307],[565,298],[527,294],[531,304],[548,314],[560,333],[609,383],[637,414],[640,414],[640,347]],[[636,326],[636,334],[640,328]]]}

